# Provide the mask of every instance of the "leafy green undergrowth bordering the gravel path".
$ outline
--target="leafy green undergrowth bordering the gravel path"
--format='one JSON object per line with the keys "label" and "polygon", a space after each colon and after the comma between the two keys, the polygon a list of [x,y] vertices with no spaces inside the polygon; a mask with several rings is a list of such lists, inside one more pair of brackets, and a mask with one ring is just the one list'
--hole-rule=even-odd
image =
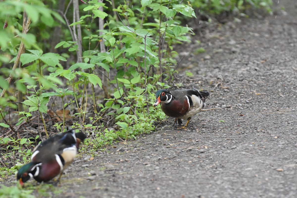
{"label": "leafy green undergrowth bordering the gravel path", "polygon": [[1,178],[28,163],[49,131],[71,126],[89,132],[81,150],[90,154],[154,131],[165,118],[152,106],[155,92],[178,84],[173,46],[191,42],[194,34],[185,21],[199,13],[240,14],[250,7],[270,12],[272,4],[92,0],[69,4],[65,12],[57,2],[0,1],[0,21],[6,21],[0,24]]}

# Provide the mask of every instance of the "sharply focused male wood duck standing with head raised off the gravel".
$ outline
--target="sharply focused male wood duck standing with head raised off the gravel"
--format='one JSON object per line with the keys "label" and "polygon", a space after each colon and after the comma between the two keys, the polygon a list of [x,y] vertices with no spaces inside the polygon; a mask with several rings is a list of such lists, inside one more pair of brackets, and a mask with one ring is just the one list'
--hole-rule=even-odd
{"label": "sharply focused male wood duck standing with head raised off the gravel", "polygon": [[169,117],[175,118],[173,126],[182,125],[181,119],[187,119],[186,125],[178,128],[185,129],[191,117],[204,107],[205,99],[208,96],[208,91],[198,91],[195,88],[170,92],[167,89],[161,89],[156,92],[154,107],[162,102],[162,111]]}

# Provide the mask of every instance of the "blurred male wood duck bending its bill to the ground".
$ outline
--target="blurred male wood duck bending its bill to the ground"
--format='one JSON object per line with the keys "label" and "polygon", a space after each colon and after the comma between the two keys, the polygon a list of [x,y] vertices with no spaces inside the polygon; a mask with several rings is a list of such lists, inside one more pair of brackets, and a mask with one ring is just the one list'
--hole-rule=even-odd
{"label": "blurred male wood duck bending its bill to the ground", "polygon": [[69,130],[50,137],[48,140],[37,145],[31,156],[31,162],[20,168],[17,174],[22,186],[24,182],[34,178],[38,182],[49,181],[60,174],[73,161],[80,142],[83,142],[86,135],[83,132],[75,133]]}

